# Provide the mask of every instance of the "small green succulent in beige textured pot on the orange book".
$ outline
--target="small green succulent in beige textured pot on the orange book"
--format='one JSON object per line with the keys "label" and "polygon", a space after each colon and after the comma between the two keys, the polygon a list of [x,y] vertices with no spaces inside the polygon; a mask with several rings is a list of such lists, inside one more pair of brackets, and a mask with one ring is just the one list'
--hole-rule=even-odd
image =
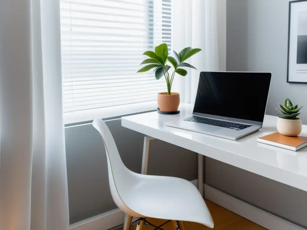
{"label": "small green succulent in beige textured pot on the orange book", "polygon": [[[278,103],[277,103],[278,104]],[[289,99],[286,99],[285,104],[278,104],[278,120],[277,130],[280,134],[285,136],[297,136],[302,131],[302,122],[297,116],[303,106],[292,105]]]}

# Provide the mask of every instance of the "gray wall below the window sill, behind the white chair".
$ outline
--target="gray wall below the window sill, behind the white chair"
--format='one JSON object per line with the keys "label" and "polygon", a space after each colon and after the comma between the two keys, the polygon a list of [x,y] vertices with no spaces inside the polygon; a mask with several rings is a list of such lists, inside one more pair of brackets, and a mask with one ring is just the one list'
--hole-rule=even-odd
{"label": "gray wall below the window sill, behind the white chair", "polygon": [[[123,128],[120,120],[106,122],[121,158],[141,172],[144,136]],[[117,208],[108,183],[102,140],[91,124],[65,128],[70,224]],[[197,155],[160,140],[150,141],[148,174],[197,178]]]}

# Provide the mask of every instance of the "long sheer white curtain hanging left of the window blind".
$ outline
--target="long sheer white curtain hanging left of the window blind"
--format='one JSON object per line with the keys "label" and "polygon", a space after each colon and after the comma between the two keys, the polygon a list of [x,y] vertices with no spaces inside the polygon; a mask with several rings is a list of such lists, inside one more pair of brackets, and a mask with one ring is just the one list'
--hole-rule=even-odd
{"label": "long sheer white curtain hanging left of the window blind", "polygon": [[0,229],[67,230],[58,0],[0,2]]}

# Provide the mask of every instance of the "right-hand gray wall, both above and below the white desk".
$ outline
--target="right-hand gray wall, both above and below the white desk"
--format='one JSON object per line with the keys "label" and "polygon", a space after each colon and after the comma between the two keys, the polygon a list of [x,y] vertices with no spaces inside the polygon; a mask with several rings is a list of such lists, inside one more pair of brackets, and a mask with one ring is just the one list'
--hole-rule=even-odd
{"label": "right-hand gray wall, both above and below the white desk", "polygon": [[[290,98],[304,105],[307,85],[286,83],[288,0],[227,0],[227,71],[269,71],[267,114]],[[255,206],[307,227],[307,192],[233,166],[206,159],[206,183]]]}

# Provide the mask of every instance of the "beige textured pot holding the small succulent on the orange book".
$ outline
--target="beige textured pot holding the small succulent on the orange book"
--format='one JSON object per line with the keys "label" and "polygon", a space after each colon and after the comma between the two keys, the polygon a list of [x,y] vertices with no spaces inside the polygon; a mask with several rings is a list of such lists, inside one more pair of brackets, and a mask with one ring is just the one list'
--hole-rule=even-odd
{"label": "beige textured pot holding the small succulent on the orange book", "polygon": [[278,117],[277,130],[285,136],[297,136],[302,131],[302,121],[301,119],[290,120]]}

